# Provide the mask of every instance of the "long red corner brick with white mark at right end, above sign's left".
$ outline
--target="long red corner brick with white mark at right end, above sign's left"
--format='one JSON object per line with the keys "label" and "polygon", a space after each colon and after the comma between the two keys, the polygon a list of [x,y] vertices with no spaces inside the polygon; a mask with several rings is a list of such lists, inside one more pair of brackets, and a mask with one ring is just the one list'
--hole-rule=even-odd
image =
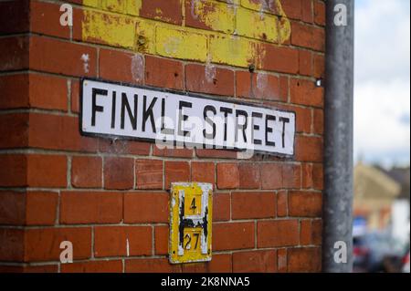
{"label": "long red corner brick with white mark at right end, above sign's left", "polygon": [[97,50],[44,36],[32,36],[30,68],[68,76],[96,77]]}

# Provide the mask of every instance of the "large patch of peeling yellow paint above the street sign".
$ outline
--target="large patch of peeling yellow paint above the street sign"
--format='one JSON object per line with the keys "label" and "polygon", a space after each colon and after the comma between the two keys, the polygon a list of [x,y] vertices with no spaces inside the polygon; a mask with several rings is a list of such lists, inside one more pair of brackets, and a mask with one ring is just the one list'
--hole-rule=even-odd
{"label": "large patch of peeling yellow paint above the street sign", "polygon": [[[185,14],[192,13],[205,26],[224,34],[140,18],[142,0],[84,0],[84,5],[112,12],[83,8],[82,40],[145,54],[247,68],[250,64],[259,67],[264,58],[264,46],[258,40],[282,44],[290,38],[290,20],[279,0],[191,3],[191,11]],[[267,7],[271,12],[263,13]],[[157,8],[156,13],[161,16],[161,9]]]}

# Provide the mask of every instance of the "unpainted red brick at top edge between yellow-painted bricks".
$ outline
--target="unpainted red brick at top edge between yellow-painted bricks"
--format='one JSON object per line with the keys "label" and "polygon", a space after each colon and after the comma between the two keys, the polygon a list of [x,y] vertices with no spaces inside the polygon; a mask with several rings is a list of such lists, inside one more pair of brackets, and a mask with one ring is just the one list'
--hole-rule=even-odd
{"label": "unpainted red brick at top edge between yellow-painted bricks", "polygon": [[140,16],[181,26],[183,20],[181,0],[142,1]]}

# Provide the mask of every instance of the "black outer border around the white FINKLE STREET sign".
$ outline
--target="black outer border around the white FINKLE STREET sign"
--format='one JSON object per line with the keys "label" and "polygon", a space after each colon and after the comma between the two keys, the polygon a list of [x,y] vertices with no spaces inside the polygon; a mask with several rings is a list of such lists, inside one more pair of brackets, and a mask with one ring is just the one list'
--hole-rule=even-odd
{"label": "black outer border around the white FINKLE STREET sign", "polygon": [[[92,137],[92,138],[101,138],[101,139],[109,139],[109,140],[138,140],[138,141],[144,141],[144,142],[150,142],[155,144],[156,139],[147,139],[147,138],[139,138],[139,137],[132,137],[132,136],[125,136],[125,135],[116,135],[116,134],[107,134],[107,133],[95,133],[95,132],[87,132],[83,131],[82,129],[82,124],[83,124],[83,83],[85,81],[96,81],[96,82],[101,82],[101,83],[106,83],[106,84],[112,84],[112,85],[119,85],[119,86],[125,86],[125,87],[131,87],[131,88],[142,88],[142,89],[149,89],[153,91],[158,91],[158,92],[163,92],[163,93],[171,93],[171,94],[177,94],[177,95],[183,95],[191,98],[197,98],[197,99],[209,99],[209,100],[214,100],[214,101],[219,101],[219,102],[226,102],[226,103],[231,103],[231,104],[238,104],[238,105],[244,105],[244,106],[249,106],[249,107],[254,107],[254,108],[259,108],[259,109],[270,109],[270,110],[278,110],[282,112],[288,112],[294,114],[294,142],[293,142],[293,149],[292,152],[293,154],[285,154],[285,153],[280,153],[280,152],[269,152],[269,151],[258,151],[258,150],[253,150],[253,154],[258,154],[262,156],[271,156],[271,157],[278,157],[282,159],[287,159],[287,160],[294,160],[296,156],[296,136],[297,136],[297,114],[294,110],[290,109],[276,109],[269,107],[267,105],[257,105],[254,103],[242,101],[242,100],[232,100],[232,99],[221,99],[217,98],[216,96],[210,96],[206,94],[199,94],[199,93],[192,93],[188,91],[179,91],[179,90],[174,90],[174,89],[169,89],[169,88],[159,88],[159,87],[153,87],[153,86],[146,86],[146,85],[136,85],[136,84],[131,84],[128,82],[121,82],[121,81],[112,81],[112,80],[106,80],[104,78],[90,78],[90,77],[82,77],[79,80],[79,132],[80,135],[85,136],[85,137]],[[201,149],[201,150],[220,150],[220,151],[237,151],[237,152],[246,152],[249,151],[248,149],[239,149],[239,148],[227,148],[226,146],[224,147],[219,147],[216,148],[216,145],[213,145],[213,148],[205,148],[205,144],[199,144],[199,143],[192,143],[194,145],[193,149]],[[176,140],[174,140],[174,146],[176,146]],[[198,146],[196,148],[195,146]],[[201,146],[201,148],[199,147]],[[166,147],[167,149],[167,147]],[[187,149],[184,147],[184,149]]]}

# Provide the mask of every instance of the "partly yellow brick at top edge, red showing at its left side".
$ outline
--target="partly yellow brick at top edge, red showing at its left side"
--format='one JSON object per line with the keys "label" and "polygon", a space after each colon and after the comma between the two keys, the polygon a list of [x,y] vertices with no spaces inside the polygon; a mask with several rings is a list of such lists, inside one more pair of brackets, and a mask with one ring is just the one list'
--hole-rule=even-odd
{"label": "partly yellow brick at top edge, red showing at its left side", "polygon": [[[186,0],[191,2],[192,0]],[[216,1],[197,0],[191,2],[191,11],[205,26],[228,34],[234,32],[236,8]]]}

